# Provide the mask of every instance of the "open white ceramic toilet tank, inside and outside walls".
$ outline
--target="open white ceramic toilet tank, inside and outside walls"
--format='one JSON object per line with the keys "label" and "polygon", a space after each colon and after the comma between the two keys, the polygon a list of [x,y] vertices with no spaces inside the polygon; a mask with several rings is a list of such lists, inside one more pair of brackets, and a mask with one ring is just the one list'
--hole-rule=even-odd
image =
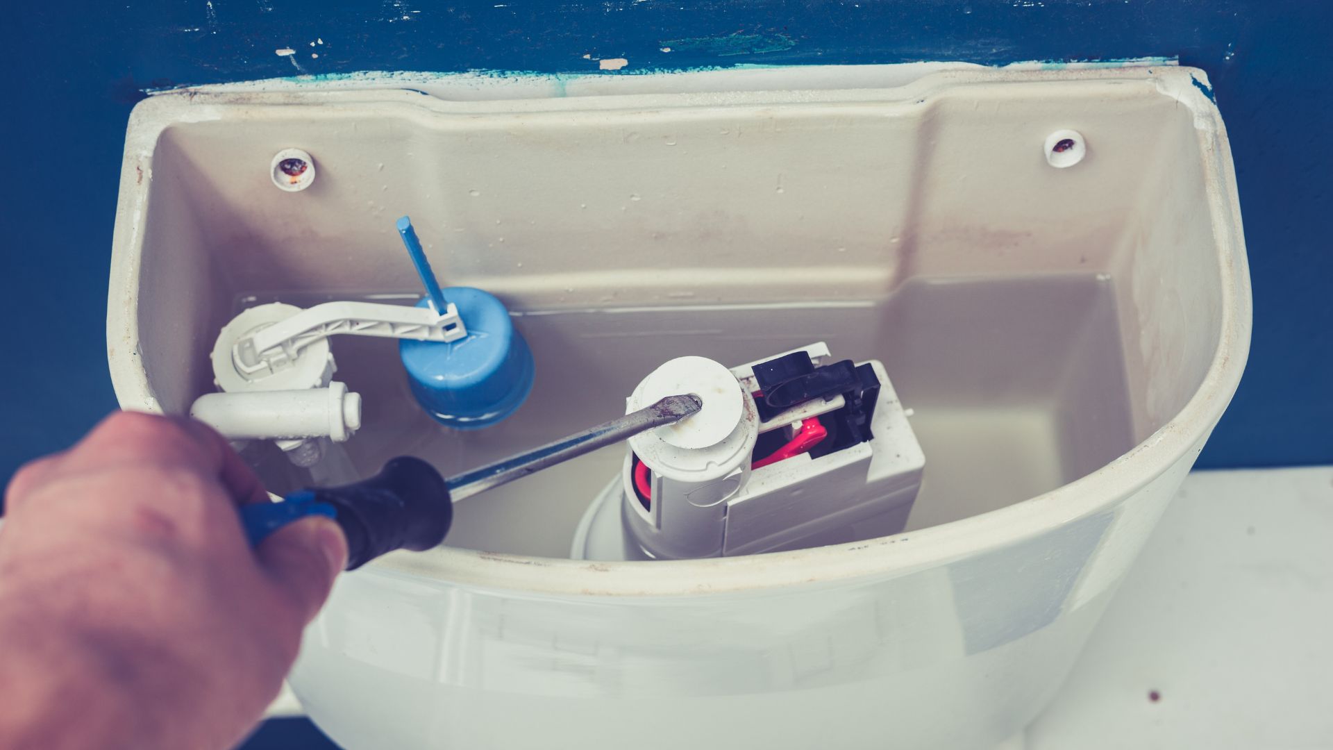
{"label": "open white ceramic toilet tank, inside and outside walls", "polygon": [[[340,743],[997,743],[1054,694],[1216,424],[1250,310],[1201,72],[858,88],[884,79],[853,69],[809,89],[792,85],[808,71],[734,73],[468,101],[443,99],[448,81],[293,83],[136,108],[108,308],[127,407],[181,412],[208,391],[239,307],[415,290],[392,228],[411,214],[441,279],[516,312],[539,382],[461,439],[415,408],[383,342],[335,342],[365,398],[348,443],[363,472],[555,438],[685,354],[824,339],[884,360],[916,410],[928,470],[897,536],[553,559],[619,450],[460,503],[456,546],[343,577],[308,633],[293,685]],[[1058,129],[1086,151],[1057,169]],[[309,190],[271,184],[285,147],[319,164]],[[304,480],[263,458],[271,488]]]}

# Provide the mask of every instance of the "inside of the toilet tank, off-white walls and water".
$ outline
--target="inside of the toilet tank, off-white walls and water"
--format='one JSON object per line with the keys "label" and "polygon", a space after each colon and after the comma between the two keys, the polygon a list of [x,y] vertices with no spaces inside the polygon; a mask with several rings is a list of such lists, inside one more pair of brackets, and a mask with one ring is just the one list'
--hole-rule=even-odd
{"label": "inside of the toilet tank, off-white walls and water", "polygon": [[[212,391],[208,352],[245,307],[416,302],[401,215],[444,284],[509,307],[536,386],[477,432],[416,406],[395,342],[332,339],[335,379],[364,398],[356,474],[400,454],[452,474],[621,414],[666,359],[733,366],[824,340],[882,360],[913,410],[921,528],[1114,460],[1184,407],[1221,335],[1205,139],[1133,76],[532,101],[172,93],[131,131],[148,121],[164,123],[152,168],[125,177],[148,191],[137,295],[112,302],[133,306],[144,406],[184,412]],[[1088,153],[1058,169],[1044,140],[1062,128]],[[307,191],[269,181],[288,147],[315,157]],[[451,544],[567,556],[621,451],[460,503]],[[245,455],[272,491],[311,482],[276,448]]]}

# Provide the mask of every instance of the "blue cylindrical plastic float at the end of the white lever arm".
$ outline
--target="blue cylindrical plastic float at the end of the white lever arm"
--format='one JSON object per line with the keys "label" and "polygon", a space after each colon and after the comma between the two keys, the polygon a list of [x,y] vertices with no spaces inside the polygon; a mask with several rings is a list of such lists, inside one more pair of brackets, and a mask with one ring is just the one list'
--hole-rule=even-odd
{"label": "blue cylindrical plastic float at the end of the white lever arm", "polygon": [[[444,296],[459,308],[468,335],[449,343],[399,343],[412,395],[441,424],[489,427],[513,414],[532,391],[532,350],[495,295],[449,287]],[[417,307],[428,304],[423,299]]]}

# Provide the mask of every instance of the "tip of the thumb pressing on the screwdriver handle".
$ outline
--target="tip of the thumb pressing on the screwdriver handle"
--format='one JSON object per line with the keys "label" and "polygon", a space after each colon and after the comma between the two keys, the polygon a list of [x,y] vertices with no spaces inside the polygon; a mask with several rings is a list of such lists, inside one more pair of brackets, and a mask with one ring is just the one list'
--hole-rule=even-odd
{"label": "tip of the thumb pressing on the screwdriver handle", "polygon": [[271,534],[257,554],[308,623],[324,606],[333,579],[347,565],[347,539],[333,519],[312,515]]}

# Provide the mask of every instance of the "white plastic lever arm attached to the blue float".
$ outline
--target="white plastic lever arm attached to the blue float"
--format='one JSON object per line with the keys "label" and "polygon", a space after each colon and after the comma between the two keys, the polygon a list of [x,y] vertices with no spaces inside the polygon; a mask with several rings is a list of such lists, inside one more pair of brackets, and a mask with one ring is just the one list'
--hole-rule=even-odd
{"label": "white plastic lever arm attached to the blue float", "polygon": [[241,338],[232,348],[232,362],[247,378],[264,370],[276,372],[311,343],[335,334],[456,342],[468,331],[452,303],[441,315],[433,307],[327,302]]}

